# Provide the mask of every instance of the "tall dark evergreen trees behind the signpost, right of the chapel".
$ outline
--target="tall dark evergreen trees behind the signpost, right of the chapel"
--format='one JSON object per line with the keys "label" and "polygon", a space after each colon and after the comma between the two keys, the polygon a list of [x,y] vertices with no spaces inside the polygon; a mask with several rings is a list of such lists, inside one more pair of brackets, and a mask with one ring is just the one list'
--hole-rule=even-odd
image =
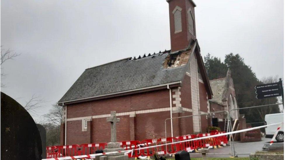
{"label": "tall dark evergreen trees behind the signpost, right of the chapel", "polygon": [[[262,81],[258,80],[255,73],[251,70],[251,67],[244,63],[244,59],[240,57],[239,54],[226,54],[224,62],[222,62],[220,58],[207,54],[207,56],[204,57],[204,61],[210,80],[225,77],[227,68],[230,68],[239,108],[277,103],[276,97],[256,99],[254,87],[258,84],[276,82],[278,78],[269,77],[264,78]],[[264,116],[266,114],[278,112],[280,111],[277,105],[239,111],[240,114],[245,114],[248,123],[264,122]]]}

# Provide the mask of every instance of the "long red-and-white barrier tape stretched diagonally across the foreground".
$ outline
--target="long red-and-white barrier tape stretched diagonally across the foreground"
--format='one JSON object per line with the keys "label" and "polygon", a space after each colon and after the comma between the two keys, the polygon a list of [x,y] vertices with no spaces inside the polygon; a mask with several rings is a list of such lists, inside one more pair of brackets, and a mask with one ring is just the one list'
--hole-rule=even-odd
{"label": "long red-and-white barrier tape stretched diagonally across the foreground", "polygon": [[[152,147],[160,147],[160,146],[163,146],[163,145],[171,145],[171,144],[183,143],[183,142],[188,142],[188,141],[201,140],[201,139],[204,139],[204,138],[213,138],[213,137],[218,137],[218,136],[225,136],[225,135],[229,135],[229,134],[251,131],[251,130],[254,130],[254,129],[260,129],[260,128],[264,128],[264,127],[267,127],[267,126],[273,126],[273,125],[277,125],[277,124],[281,125],[281,124],[284,124],[284,122],[274,123],[274,124],[267,124],[267,125],[263,125],[263,126],[258,126],[258,127],[248,128],[248,129],[242,129],[242,130],[238,130],[238,131],[232,131],[232,132],[227,132],[227,133],[222,133],[222,134],[215,134],[215,135],[211,135],[211,136],[199,137],[199,138],[194,138],[194,139],[189,139],[189,140],[182,140],[182,141],[166,143],[166,144],[162,144],[162,145],[154,145],[154,146],[142,147],[142,148],[138,148],[138,149],[125,150],[125,151],[120,151],[120,152],[128,152],[129,153],[129,152],[133,152],[135,150],[143,150],[143,149],[148,149],[148,148],[152,148]],[[97,153],[97,154],[81,155],[81,156],[72,156],[72,157],[60,157],[60,158],[53,158],[53,159],[42,159],[42,160],[68,160],[68,159],[77,159],[77,158],[95,158],[96,156],[99,156],[99,155],[106,155],[106,154],[112,154],[112,153],[118,153],[118,151],[117,152],[107,152],[107,153]]]}

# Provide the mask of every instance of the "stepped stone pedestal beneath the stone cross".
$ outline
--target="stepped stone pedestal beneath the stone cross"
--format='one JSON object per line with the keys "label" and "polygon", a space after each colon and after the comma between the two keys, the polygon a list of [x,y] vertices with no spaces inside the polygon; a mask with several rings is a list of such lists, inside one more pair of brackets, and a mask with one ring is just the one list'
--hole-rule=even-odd
{"label": "stepped stone pedestal beneath the stone cross", "polygon": [[[116,152],[116,151],[123,151],[124,148],[120,147],[119,142],[110,142],[107,143],[107,148],[103,151],[104,153],[107,152]],[[125,155],[124,152],[117,152],[117,153],[110,153],[100,157],[100,160],[127,160],[128,155]]]}

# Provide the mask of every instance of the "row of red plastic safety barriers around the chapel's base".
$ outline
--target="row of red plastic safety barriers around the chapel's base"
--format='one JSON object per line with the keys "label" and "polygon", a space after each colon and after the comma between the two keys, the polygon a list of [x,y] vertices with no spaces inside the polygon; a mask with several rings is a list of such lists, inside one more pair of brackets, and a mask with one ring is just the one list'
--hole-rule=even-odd
{"label": "row of red plastic safety barriers around the chapel's base", "polygon": [[[192,152],[197,148],[209,148],[210,146],[219,147],[219,145],[225,145],[228,143],[227,136],[218,136],[213,138],[205,138],[200,140],[193,140],[175,144],[168,144],[177,141],[184,141],[189,139],[194,139],[198,137],[212,136],[216,134],[221,134],[225,132],[211,131],[211,133],[199,133],[197,135],[188,134],[185,136],[178,137],[168,137],[159,139],[147,139],[132,141],[121,141],[120,146],[124,150],[131,150],[128,152],[128,157],[139,157],[139,156],[153,156],[157,154],[174,154],[180,150],[185,150]],[[161,145],[161,146],[155,146]],[[47,158],[58,158],[66,156],[77,156],[77,155],[88,155],[94,154],[96,150],[103,150],[107,146],[107,143],[91,143],[91,144],[81,144],[81,145],[66,145],[66,146],[49,146],[46,147],[46,157]],[[154,146],[154,147],[151,147]],[[142,147],[149,147],[147,149],[136,150]]]}

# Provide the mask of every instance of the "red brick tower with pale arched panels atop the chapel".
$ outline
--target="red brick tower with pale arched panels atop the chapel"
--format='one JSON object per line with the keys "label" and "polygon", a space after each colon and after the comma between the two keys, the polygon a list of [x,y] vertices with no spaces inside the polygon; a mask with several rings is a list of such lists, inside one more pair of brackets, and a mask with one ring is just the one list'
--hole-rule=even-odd
{"label": "red brick tower with pale arched panels atop the chapel", "polygon": [[196,39],[196,4],[192,0],[166,0],[169,4],[171,52],[187,49]]}

